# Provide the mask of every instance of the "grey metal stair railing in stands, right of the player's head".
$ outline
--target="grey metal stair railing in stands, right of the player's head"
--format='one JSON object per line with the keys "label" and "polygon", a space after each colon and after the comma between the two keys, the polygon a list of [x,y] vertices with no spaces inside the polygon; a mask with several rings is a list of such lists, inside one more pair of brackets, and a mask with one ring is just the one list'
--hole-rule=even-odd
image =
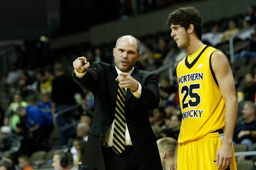
{"label": "grey metal stair railing in stands, right of the player's head", "polygon": [[248,45],[247,43],[244,43],[244,45],[240,45],[240,47],[234,49],[234,38],[238,37],[239,35],[241,35],[242,33],[246,32],[246,31],[250,31],[256,28],[256,24],[252,25],[251,27],[242,29],[238,34],[236,35],[232,35],[229,38],[229,53],[230,53],[230,63],[233,64],[234,63],[234,52],[241,50],[242,48],[246,47]]}

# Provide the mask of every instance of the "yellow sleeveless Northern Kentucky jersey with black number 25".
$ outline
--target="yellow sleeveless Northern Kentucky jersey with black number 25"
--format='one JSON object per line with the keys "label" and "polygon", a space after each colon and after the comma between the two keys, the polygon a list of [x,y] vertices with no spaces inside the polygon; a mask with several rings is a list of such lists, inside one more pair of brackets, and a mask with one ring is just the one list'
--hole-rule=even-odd
{"label": "yellow sleeveless Northern Kentucky jersey with black number 25", "polygon": [[225,103],[212,70],[217,51],[204,45],[176,66],[182,111],[179,143],[224,129]]}

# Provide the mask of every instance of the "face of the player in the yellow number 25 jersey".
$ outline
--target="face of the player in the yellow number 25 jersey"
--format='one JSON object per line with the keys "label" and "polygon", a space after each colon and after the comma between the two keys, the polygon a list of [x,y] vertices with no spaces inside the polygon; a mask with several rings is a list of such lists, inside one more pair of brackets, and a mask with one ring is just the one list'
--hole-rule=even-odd
{"label": "face of the player in the yellow number 25 jersey", "polygon": [[180,25],[171,24],[171,36],[176,41],[179,48],[187,48],[189,46],[190,37],[185,28]]}

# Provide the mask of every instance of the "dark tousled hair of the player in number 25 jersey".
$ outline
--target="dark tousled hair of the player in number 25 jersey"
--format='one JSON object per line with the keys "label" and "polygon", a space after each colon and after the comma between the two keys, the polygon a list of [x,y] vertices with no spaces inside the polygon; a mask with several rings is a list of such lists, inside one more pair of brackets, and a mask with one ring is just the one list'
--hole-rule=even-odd
{"label": "dark tousled hair of the player in number 25 jersey", "polygon": [[189,24],[193,24],[198,39],[202,38],[201,14],[192,6],[181,7],[170,13],[167,18],[167,27],[170,28],[171,24],[180,25],[181,27],[185,28],[185,30],[188,29]]}

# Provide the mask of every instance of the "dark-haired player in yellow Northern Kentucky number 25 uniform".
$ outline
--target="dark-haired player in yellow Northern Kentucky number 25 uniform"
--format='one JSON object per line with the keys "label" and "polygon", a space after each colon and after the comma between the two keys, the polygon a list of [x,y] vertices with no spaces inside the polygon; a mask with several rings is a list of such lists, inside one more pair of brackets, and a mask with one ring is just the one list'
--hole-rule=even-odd
{"label": "dark-haired player in yellow Northern Kentucky number 25 uniform", "polygon": [[201,42],[201,15],[194,7],[170,13],[167,25],[187,51],[176,66],[182,123],[171,170],[236,170],[232,136],[238,105],[229,61]]}

